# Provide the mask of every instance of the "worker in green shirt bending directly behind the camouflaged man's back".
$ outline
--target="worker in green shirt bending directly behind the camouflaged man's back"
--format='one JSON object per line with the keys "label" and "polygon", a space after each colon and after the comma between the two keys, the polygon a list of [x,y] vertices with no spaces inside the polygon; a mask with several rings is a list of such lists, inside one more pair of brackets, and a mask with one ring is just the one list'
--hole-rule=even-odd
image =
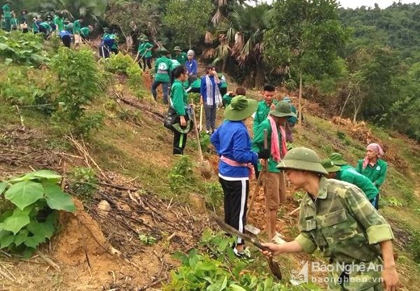
{"label": "worker in green shirt bending directly behind the camouflaged man's back", "polygon": [[322,166],[328,171],[327,178],[337,179],[344,181],[360,188],[365,194],[370,203],[374,206],[375,198],[379,194],[377,187],[374,187],[373,183],[363,176],[361,173],[356,172],[355,169],[342,169],[339,166],[335,166],[331,159],[323,159],[321,162]]}

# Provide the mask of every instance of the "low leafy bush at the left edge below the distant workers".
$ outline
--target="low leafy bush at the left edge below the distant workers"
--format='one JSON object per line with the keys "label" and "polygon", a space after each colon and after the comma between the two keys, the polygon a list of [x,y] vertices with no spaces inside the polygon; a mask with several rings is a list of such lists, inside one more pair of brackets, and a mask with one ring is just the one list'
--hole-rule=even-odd
{"label": "low leafy bush at the left edge below the distant workers", "polygon": [[27,64],[39,66],[48,62],[43,50],[42,36],[21,34],[13,31],[10,34],[0,30],[0,59],[6,64]]}

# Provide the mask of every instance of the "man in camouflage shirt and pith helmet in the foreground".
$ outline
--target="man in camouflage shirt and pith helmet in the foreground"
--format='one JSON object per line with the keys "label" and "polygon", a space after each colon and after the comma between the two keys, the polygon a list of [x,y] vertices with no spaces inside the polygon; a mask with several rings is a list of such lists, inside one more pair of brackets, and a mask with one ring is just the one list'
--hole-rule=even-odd
{"label": "man in camouflage shirt and pith helmet in the foreground", "polygon": [[300,201],[300,234],[281,245],[262,243],[271,250],[264,255],[312,254],[319,248],[329,258],[328,290],[398,290],[391,227],[365,194],[355,185],[325,178],[328,172],[309,148],[293,148],[277,167],[307,194]]}

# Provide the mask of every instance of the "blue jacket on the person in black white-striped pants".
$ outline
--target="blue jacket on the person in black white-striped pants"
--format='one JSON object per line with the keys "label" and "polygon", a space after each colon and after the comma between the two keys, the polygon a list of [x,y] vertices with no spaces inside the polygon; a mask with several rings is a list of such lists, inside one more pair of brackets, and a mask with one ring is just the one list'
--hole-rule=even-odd
{"label": "blue jacket on the person in black white-striped pants", "polygon": [[[210,141],[219,156],[225,156],[239,163],[257,164],[258,154],[251,151],[251,137],[242,121],[227,120],[211,135]],[[219,162],[219,176],[226,180],[248,178],[246,166],[230,166]]]}

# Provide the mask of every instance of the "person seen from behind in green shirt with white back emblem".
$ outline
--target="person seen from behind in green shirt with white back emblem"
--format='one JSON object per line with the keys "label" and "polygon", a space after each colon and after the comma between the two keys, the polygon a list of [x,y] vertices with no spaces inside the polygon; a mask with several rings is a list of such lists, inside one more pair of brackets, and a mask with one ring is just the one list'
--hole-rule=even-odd
{"label": "person seen from behind in green shirt with white back emblem", "polygon": [[171,78],[169,74],[172,71],[172,61],[170,59],[171,53],[168,52],[167,49],[162,48],[160,50],[162,57],[156,59],[155,63],[155,80],[153,80],[152,84],[152,94],[155,101],[158,99],[158,93],[156,89],[159,85],[162,84],[162,91],[163,91],[163,104],[168,104],[168,90],[169,90],[169,82]]}

